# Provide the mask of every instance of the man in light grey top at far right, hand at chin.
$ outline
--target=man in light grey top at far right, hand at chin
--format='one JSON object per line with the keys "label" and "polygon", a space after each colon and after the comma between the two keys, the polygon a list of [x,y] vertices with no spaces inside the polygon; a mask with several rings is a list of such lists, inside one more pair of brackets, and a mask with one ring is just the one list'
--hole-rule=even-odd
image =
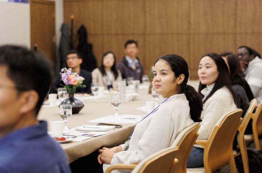
{"label": "man in light grey top at far right, hand at chin", "polygon": [[258,57],[254,58],[253,50],[247,46],[238,47],[237,57],[240,60],[245,79],[260,104],[262,101],[262,60]]}

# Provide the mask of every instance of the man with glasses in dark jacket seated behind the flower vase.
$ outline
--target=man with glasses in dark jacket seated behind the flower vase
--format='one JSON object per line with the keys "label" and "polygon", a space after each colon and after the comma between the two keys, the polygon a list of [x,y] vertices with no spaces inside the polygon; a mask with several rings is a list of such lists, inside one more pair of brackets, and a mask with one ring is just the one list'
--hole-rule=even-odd
{"label": "man with glasses in dark jacket seated behind the flower vase", "polygon": [[[90,93],[91,92],[91,84],[92,84],[92,75],[91,72],[80,69],[80,64],[82,64],[83,59],[79,56],[76,50],[69,50],[66,53],[66,65],[68,68],[72,68],[73,72],[76,72],[79,76],[85,78],[83,81],[83,85],[86,85],[85,88],[76,88],[76,92],[80,93]],[[63,81],[61,81],[61,76],[58,74],[54,80],[54,84],[50,93],[57,93],[57,88],[62,87],[65,85]]]}

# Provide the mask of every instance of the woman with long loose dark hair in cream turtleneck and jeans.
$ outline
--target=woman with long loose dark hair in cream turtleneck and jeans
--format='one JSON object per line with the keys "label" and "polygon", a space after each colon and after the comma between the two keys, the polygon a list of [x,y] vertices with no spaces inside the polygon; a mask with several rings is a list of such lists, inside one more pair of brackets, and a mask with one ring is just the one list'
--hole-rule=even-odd
{"label": "woman with long loose dark hair in cream turtleneck and jeans", "polygon": [[[228,67],[221,56],[216,53],[204,55],[199,63],[198,75],[199,93],[203,95],[204,105],[197,140],[207,140],[222,115],[237,109],[237,101],[231,87]],[[203,155],[203,147],[194,145],[187,167],[203,167]]]}

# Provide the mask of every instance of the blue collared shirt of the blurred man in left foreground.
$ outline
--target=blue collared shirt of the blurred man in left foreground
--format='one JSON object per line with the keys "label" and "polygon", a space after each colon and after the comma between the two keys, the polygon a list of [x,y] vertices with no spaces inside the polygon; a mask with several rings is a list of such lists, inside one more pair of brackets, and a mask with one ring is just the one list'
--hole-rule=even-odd
{"label": "blue collared shirt of the blurred man in left foreground", "polygon": [[46,121],[0,139],[0,172],[70,173],[63,149],[47,134]]}

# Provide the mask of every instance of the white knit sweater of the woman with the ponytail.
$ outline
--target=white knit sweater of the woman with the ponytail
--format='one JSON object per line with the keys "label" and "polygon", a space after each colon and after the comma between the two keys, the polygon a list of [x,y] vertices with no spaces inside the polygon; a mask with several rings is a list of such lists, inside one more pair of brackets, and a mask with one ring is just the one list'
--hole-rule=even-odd
{"label": "white knit sweater of the woman with the ponytail", "polygon": [[[113,156],[111,165],[139,163],[149,155],[171,146],[176,136],[193,123],[186,96],[184,94],[170,96],[160,104],[156,112],[136,125],[131,140],[120,145],[123,151]],[[103,164],[104,172],[109,166]],[[120,171],[113,171],[116,172]]]}

